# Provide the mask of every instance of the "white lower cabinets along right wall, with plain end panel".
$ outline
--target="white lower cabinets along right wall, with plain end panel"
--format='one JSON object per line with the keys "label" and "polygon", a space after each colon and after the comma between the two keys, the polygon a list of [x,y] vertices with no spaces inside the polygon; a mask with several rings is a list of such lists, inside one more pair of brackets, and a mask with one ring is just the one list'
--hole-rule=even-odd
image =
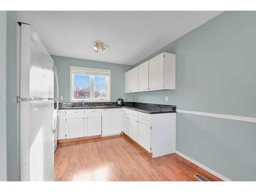
{"label": "white lower cabinets along right wall, with plain end panel", "polygon": [[175,152],[175,127],[176,113],[146,114],[129,110],[129,135],[126,135],[155,158]]}

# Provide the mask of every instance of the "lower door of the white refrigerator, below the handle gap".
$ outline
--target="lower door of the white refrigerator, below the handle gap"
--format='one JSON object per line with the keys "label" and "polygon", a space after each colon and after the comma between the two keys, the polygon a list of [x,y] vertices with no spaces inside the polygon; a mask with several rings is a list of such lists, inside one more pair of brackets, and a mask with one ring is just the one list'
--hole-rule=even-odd
{"label": "lower door of the white refrigerator, below the handle gap", "polygon": [[53,101],[20,102],[20,179],[53,181]]}

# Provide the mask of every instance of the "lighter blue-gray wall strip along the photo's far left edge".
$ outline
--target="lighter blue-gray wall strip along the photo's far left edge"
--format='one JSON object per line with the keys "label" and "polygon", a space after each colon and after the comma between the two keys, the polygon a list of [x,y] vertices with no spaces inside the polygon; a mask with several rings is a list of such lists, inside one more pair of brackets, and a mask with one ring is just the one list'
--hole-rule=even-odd
{"label": "lighter blue-gray wall strip along the photo's far left edge", "polygon": [[7,180],[6,27],[6,11],[0,11],[0,181]]}

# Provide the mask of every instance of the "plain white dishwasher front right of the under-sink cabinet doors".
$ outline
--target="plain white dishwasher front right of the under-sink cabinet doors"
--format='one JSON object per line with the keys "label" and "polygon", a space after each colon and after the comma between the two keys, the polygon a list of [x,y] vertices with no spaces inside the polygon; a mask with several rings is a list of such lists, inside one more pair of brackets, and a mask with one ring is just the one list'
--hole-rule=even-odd
{"label": "plain white dishwasher front right of the under-sink cabinet doors", "polygon": [[102,136],[119,135],[122,127],[121,109],[102,109]]}

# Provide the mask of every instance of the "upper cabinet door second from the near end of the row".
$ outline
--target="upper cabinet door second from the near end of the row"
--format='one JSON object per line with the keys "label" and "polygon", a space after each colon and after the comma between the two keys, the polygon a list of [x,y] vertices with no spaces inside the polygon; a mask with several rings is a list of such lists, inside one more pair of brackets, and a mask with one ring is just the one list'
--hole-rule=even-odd
{"label": "upper cabinet door second from the near end of the row", "polygon": [[148,60],[139,65],[139,92],[148,91]]}

